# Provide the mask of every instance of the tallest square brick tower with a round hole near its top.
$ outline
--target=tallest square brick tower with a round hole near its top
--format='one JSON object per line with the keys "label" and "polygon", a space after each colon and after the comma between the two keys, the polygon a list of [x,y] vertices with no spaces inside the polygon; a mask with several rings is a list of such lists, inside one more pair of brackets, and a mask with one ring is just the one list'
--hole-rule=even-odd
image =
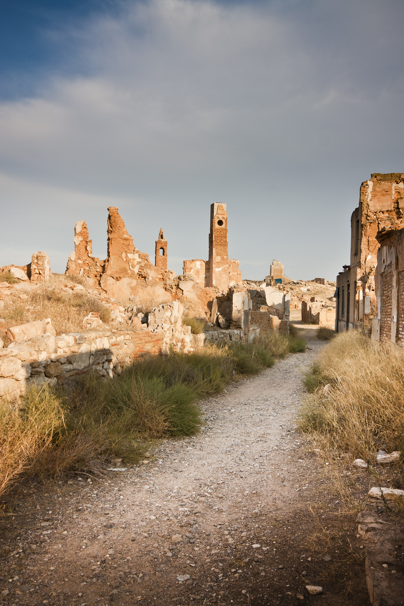
{"label": "tallest square brick tower with a round hole near its top", "polygon": [[215,202],[210,207],[208,285],[227,292],[229,267],[226,205]]}

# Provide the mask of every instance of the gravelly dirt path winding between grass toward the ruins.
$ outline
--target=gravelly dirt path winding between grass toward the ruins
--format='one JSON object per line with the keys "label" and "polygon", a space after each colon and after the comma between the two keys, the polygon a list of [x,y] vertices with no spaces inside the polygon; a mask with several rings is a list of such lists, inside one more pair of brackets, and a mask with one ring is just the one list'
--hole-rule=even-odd
{"label": "gravelly dirt path winding between grass toward the ruins", "polygon": [[139,467],[27,486],[1,536],[0,604],[369,604],[356,516],[295,428],[322,345],[202,402],[200,434]]}

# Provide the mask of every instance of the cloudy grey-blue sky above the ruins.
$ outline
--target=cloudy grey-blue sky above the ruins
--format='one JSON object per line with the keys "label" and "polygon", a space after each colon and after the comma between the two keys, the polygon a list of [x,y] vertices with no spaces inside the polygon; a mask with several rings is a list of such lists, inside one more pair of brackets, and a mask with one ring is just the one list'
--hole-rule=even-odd
{"label": "cloudy grey-blue sky above the ruins", "polygon": [[0,266],[107,207],[154,262],[207,259],[227,204],[244,279],[335,280],[371,173],[404,171],[402,0],[0,0]]}

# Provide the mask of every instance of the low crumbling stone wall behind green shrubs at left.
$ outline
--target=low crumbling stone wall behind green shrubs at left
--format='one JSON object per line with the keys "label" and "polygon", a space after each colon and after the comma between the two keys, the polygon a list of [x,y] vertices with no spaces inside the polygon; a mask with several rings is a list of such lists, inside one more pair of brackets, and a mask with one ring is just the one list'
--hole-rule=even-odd
{"label": "low crumbling stone wall behind green shrubs at left", "polygon": [[[111,379],[143,355],[162,355],[163,340],[148,330],[55,335],[48,320],[8,329],[16,340],[0,347],[0,399],[12,400],[33,384],[69,384],[93,371]],[[42,334],[42,330],[47,330]],[[0,343],[1,345],[1,343]]]}

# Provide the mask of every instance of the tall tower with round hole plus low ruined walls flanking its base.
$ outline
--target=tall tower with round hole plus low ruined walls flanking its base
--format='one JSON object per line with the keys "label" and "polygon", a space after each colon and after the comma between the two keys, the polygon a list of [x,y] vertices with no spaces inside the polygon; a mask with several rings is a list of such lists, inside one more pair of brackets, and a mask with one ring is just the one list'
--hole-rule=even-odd
{"label": "tall tower with round hole plus low ruined walls flanking its base", "polygon": [[228,288],[242,281],[239,261],[228,257],[226,204],[211,204],[209,258],[184,261],[184,275],[190,274],[201,288],[216,287],[227,292]]}

